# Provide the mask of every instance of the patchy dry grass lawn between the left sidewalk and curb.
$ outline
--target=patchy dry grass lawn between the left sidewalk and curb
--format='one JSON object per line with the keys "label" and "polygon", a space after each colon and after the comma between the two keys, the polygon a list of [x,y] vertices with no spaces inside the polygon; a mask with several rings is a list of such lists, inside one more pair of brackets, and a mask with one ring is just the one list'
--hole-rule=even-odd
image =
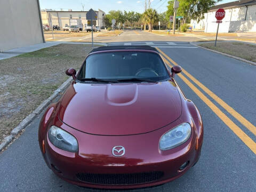
{"label": "patchy dry grass lawn between the left sidewalk and curb", "polygon": [[60,44],[0,60],[0,143],[81,67],[91,45]]}

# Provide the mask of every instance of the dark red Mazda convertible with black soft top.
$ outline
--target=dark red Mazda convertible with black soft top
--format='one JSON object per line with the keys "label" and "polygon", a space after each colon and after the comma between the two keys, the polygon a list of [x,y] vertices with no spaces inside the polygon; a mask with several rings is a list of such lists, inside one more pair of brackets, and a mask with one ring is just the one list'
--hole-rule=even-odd
{"label": "dark red Mazda convertible with black soft top", "polygon": [[63,180],[93,188],[172,181],[196,164],[203,123],[150,46],[93,49],[58,102],[45,111],[39,146]]}

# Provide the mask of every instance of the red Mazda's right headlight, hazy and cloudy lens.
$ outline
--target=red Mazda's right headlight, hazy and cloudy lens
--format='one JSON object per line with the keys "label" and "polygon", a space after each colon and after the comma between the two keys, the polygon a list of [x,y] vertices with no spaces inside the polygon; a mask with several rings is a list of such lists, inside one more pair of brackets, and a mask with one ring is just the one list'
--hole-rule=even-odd
{"label": "red Mazda's right headlight, hazy and cloudy lens", "polygon": [[159,141],[159,149],[168,150],[185,143],[191,134],[189,123],[182,123],[165,133]]}

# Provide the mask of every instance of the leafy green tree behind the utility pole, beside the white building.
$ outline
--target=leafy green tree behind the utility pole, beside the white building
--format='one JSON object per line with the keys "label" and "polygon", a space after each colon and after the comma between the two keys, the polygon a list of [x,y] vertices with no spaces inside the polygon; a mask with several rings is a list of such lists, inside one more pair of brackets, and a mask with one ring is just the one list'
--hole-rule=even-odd
{"label": "leafy green tree behind the utility pole, beside the white building", "polygon": [[[222,0],[179,0],[180,6],[177,10],[177,14],[183,16],[183,23],[186,23],[188,19],[201,20],[204,19],[204,13],[209,11],[210,7]],[[173,2],[168,2],[166,19],[173,15]]]}

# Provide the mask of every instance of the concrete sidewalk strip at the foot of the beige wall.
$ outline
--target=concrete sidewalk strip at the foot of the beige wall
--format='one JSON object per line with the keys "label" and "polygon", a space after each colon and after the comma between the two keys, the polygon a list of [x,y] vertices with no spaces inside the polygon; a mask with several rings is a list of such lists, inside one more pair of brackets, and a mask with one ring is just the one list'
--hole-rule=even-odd
{"label": "concrete sidewalk strip at the foot of the beige wall", "polygon": [[23,54],[23,53],[29,53],[29,52],[32,52],[32,51],[37,51],[37,50],[40,50],[40,49],[43,49],[43,48],[46,48],[46,47],[50,47],[50,46],[53,46],[53,45],[58,45],[60,43],[63,43],[63,42],[39,43],[39,44],[35,44],[35,45],[30,45],[30,46],[26,46],[26,47],[20,47],[20,48],[4,51],[4,52],[0,53],[0,60],[15,57],[15,56]]}

